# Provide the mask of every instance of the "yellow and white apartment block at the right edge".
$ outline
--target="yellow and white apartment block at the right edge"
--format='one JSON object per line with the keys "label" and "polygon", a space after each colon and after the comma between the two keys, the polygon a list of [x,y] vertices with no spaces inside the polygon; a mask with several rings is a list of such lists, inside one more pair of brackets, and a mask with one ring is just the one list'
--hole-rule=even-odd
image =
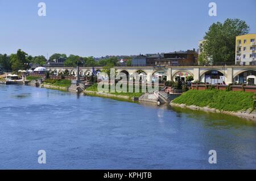
{"label": "yellow and white apartment block at the right edge", "polygon": [[236,37],[236,64],[256,65],[256,34]]}

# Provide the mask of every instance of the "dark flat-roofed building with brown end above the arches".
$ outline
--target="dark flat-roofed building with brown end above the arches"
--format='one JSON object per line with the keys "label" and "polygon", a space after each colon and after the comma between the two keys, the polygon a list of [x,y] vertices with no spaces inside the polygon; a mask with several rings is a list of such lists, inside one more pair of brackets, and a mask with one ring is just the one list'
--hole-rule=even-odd
{"label": "dark flat-roofed building with brown end above the arches", "polygon": [[164,53],[164,58],[155,60],[156,66],[193,66],[198,65],[198,53],[195,49]]}

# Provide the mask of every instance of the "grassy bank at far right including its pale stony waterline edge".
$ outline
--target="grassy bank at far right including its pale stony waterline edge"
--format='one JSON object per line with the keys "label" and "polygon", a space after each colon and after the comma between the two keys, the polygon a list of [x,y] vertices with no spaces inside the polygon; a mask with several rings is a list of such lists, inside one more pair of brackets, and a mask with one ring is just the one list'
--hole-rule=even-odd
{"label": "grassy bank at far right including its pale stony waterline edge", "polygon": [[253,92],[224,90],[190,90],[174,99],[171,106],[220,112],[256,120]]}

